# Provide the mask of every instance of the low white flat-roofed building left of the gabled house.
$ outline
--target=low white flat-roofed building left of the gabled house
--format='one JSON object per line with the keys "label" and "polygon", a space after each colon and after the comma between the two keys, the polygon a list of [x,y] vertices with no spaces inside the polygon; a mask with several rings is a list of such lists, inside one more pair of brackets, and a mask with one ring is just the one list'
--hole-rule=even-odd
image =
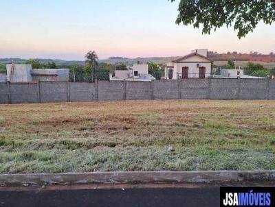
{"label": "low white flat-roofed building left of the gabled house", "polygon": [[127,70],[115,71],[115,77],[110,73],[110,81],[121,80],[151,82],[155,77],[148,74],[148,64],[133,64]]}

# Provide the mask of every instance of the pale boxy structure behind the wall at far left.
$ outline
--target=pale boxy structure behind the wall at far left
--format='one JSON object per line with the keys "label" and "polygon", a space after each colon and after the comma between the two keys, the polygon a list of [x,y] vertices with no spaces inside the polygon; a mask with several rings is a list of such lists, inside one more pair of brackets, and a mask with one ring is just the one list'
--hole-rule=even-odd
{"label": "pale boxy structure behind the wall at far left", "polygon": [[31,64],[7,64],[8,82],[32,82]]}

